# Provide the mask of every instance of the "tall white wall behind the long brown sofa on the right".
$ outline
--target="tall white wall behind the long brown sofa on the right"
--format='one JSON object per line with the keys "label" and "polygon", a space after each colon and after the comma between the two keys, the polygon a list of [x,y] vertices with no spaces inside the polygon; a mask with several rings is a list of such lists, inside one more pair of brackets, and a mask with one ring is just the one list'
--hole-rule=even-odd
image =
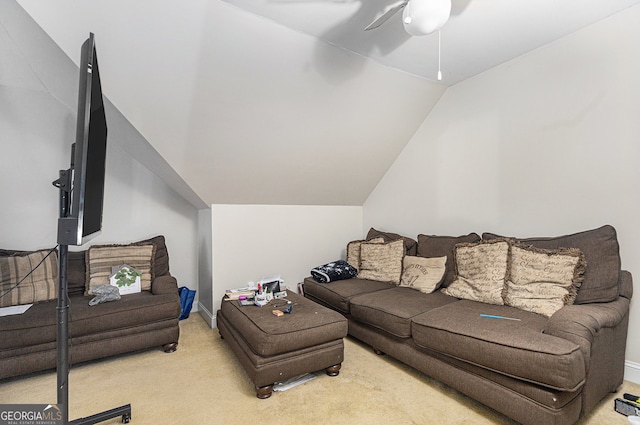
{"label": "tall white wall behind the long brown sofa on the right", "polygon": [[609,223],[639,281],[638,22],[631,8],[451,87],[366,201],[365,228],[524,237]]}

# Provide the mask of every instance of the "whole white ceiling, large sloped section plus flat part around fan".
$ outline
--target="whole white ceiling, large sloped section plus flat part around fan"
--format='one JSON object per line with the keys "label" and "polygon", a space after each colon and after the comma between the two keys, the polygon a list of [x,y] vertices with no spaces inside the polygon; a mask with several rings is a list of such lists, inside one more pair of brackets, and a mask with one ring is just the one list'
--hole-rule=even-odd
{"label": "whole white ceiling, large sloped section plus flat part around fan", "polygon": [[[437,57],[423,66],[432,36],[410,39],[391,20],[362,41],[359,29],[344,26],[354,17],[357,27],[368,23],[381,0],[18,0],[76,63],[88,33],[96,35],[105,95],[204,204],[297,205],[362,205],[454,76],[477,74],[496,64],[486,58],[503,62],[638,2],[567,1],[575,15],[589,16],[578,24],[556,10],[557,1],[456,6],[450,43],[467,46],[485,32],[498,42],[443,53],[448,83],[438,83],[406,65],[432,74]],[[489,8],[472,13],[475,3]],[[502,13],[512,3],[535,3],[548,21],[500,27],[512,19]],[[605,3],[614,6],[595,7]],[[463,16],[485,23],[463,26]],[[305,22],[321,24],[306,30],[313,26]],[[531,41],[527,23],[553,35]],[[545,30],[565,24],[564,33]],[[467,37],[469,28],[476,32]]]}

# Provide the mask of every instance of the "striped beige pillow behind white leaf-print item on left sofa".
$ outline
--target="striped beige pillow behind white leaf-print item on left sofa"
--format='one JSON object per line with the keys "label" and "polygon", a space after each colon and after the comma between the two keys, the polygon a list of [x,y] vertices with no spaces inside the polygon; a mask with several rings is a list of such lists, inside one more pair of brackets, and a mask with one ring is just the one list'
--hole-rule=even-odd
{"label": "striped beige pillow behind white leaf-print item on left sofa", "polygon": [[156,246],[144,245],[94,245],[87,250],[87,283],[86,294],[93,295],[92,288],[98,285],[108,285],[111,267],[127,264],[135,268],[140,277],[140,288],[151,290],[153,280],[153,258]]}

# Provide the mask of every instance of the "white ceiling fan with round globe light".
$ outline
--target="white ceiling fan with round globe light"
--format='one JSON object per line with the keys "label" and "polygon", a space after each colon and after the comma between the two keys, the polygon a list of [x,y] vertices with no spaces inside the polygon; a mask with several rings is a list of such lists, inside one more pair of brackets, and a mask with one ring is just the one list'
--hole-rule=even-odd
{"label": "white ceiling fan with round globe light", "polygon": [[411,35],[427,35],[439,30],[451,15],[451,0],[400,0],[390,4],[365,31],[378,28],[400,10],[404,29]]}

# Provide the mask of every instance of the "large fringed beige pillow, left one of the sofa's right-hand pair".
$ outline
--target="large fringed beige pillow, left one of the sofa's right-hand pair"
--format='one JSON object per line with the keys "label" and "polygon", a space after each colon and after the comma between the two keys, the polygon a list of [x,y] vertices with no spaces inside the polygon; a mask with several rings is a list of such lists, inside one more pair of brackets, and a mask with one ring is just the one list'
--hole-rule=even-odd
{"label": "large fringed beige pillow, left one of the sofa's right-hand pair", "polygon": [[454,249],[456,279],[442,292],[456,298],[503,305],[509,271],[509,242],[494,239]]}

